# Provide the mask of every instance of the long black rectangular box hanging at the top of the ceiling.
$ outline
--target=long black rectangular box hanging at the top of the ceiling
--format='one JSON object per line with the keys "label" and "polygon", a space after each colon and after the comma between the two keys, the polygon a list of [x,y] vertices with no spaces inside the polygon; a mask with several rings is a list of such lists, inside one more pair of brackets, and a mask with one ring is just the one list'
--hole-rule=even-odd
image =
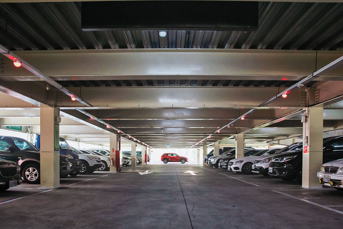
{"label": "long black rectangular box hanging at the top of the ceiling", "polygon": [[93,1],[81,4],[83,31],[256,30],[258,2]]}

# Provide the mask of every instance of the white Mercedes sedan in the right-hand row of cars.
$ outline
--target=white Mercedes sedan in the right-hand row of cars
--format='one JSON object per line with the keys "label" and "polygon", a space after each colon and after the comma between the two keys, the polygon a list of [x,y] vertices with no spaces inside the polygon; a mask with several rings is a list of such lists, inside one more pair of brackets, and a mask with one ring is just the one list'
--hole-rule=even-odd
{"label": "white Mercedes sedan in the right-hand row of cars", "polygon": [[255,162],[256,158],[264,155],[265,153],[267,153],[268,150],[269,149],[255,150],[255,151],[251,150],[253,153],[251,156],[232,159],[229,161],[229,165],[227,167],[227,170],[231,170],[234,172],[243,172],[245,174],[250,174],[251,173],[251,165]]}

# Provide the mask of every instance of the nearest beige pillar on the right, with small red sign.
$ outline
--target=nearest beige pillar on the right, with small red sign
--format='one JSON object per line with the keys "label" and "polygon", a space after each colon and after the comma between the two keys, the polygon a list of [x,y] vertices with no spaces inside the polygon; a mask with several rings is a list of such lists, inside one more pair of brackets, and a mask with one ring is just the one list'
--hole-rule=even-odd
{"label": "nearest beige pillar on the right, with small red sign", "polygon": [[310,107],[306,115],[307,122],[303,123],[303,187],[315,188],[321,187],[317,172],[323,164],[323,107]]}

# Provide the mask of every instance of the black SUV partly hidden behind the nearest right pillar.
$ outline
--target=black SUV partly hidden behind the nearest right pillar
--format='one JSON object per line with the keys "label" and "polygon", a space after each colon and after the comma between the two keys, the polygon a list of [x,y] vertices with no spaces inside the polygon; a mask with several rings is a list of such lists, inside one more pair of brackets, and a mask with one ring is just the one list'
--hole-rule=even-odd
{"label": "black SUV partly hidden behind the nearest right pillar", "polygon": [[[323,163],[343,158],[343,136],[323,139]],[[268,174],[285,181],[302,182],[303,150],[285,152],[271,159]]]}

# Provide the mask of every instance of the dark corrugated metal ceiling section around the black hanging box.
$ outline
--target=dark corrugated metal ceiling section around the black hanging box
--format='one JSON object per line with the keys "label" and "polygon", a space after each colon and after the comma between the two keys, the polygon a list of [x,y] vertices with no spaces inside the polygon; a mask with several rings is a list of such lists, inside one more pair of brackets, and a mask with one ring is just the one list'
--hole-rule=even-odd
{"label": "dark corrugated metal ceiling section around the black hanging box", "polygon": [[260,2],[257,31],[167,31],[165,38],[159,37],[159,31],[84,32],[80,10],[80,2],[0,3],[0,43],[12,50],[343,50],[342,3]]}

